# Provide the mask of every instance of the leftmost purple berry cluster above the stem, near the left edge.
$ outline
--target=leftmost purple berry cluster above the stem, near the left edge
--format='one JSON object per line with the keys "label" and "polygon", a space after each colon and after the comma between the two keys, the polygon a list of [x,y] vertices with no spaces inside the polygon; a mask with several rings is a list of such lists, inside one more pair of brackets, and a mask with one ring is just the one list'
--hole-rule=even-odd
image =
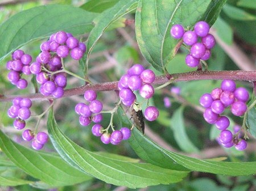
{"label": "leftmost purple berry cluster above the stem, near the left edge", "polygon": [[32,57],[25,54],[23,50],[15,50],[11,56],[12,60],[7,61],[6,68],[10,70],[7,78],[19,89],[27,87],[27,80],[22,78],[22,74],[30,75],[30,63]]}

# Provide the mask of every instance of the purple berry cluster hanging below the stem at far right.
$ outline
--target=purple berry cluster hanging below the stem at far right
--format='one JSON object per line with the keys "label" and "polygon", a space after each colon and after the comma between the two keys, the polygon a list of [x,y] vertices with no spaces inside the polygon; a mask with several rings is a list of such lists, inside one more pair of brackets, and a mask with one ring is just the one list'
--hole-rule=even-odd
{"label": "purple berry cluster hanging below the stem at far right", "polygon": [[227,130],[230,124],[229,118],[220,114],[230,107],[235,116],[243,116],[247,110],[246,101],[248,99],[249,93],[246,88],[236,88],[236,83],[233,80],[223,80],[220,88],[213,89],[211,94],[201,96],[200,104],[205,108],[204,119],[209,124],[215,124],[216,128],[221,130],[219,139],[224,147],[235,145],[237,150],[246,148],[245,140],[238,139],[231,131]]}

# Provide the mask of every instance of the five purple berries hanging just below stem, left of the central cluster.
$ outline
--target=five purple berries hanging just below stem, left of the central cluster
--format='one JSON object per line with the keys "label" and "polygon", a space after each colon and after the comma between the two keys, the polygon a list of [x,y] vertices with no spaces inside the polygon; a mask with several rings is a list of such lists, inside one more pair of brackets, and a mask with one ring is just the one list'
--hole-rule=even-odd
{"label": "five purple berries hanging just below stem, left of the central cluster", "polygon": [[79,114],[79,122],[82,126],[90,125],[93,121],[96,124],[100,123],[103,119],[102,111],[103,105],[100,100],[96,100],[97,94],[93,90],[86,90],[84,92],[84,99],[88,104],[78,103],[75,107],[75,112]]}

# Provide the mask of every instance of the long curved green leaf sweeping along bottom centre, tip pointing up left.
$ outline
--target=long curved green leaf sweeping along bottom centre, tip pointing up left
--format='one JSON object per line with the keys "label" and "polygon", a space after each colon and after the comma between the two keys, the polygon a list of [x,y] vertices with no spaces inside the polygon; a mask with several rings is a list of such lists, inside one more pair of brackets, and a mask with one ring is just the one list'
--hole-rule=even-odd
{"label": "long curved green leaf sweeping along bottom centre, tip pointing up left", "polygon": [[52,110],[49,113],[47,127],[53,145],[67,162],[109,184],[137,188],[170,184],[181,181],[187,175],[187,172],[172,171],[147,163],[133,163],[130,159],[124,160],[125,157],[122,157],[122,160],[116,157],[109,158],[85,150],[61,133]]}

